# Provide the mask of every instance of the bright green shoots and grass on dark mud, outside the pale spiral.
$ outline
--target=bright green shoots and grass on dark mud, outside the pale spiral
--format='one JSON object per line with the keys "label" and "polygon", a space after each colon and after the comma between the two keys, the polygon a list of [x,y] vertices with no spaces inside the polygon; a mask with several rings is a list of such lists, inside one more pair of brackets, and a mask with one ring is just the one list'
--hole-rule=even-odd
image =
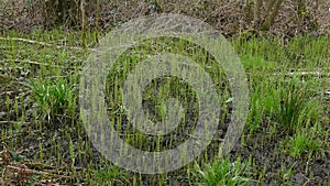
{"label": "bright green shoots and grass on dark mud, outside the pale spiral", "polygon": [[[135,147],[163,151],[177,146],[191,138],[198,112],[196,92],[187,83],[169,77],[154,79],[142,95],[148,117],[166,119],[170,111],[166,103],[172,98],[180,100],[177,109],[185,117],[168,135],[150,136],[133,129],[121,108],[122,86],[146,55],[163,51],[190,56],[207,69],[221,95],[219,131],[209,147],[187,166],[161,175],[127,172],[90,143],[79,118],[78,85],[88,56],[77,47],[79,36],[61,30],[1,35],[8,40],[0,40],[0,183],[329,184],[329,36],[287,40],[261,34],[230,41],[246,70],[251,105],[240,142],[224,160],[216,155],[231,116],[231,92],[221,67],[185,41],[145,41],[123,53],[107,78],[106,102],[117,131]],[[151,47],[148,42],[156,44]],[[87,35],[87,43],[94,44],[94,33]]]}

